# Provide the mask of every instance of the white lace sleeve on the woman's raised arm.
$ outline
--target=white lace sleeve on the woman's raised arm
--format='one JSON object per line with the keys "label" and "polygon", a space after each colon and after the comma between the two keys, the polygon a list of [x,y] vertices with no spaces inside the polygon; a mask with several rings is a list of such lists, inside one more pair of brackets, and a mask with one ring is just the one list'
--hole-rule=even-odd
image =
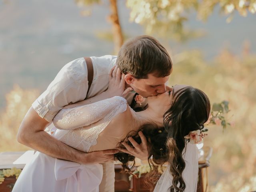
{"label": "white lace sleeve on the woman's raised arm", "polygon": [[74,108],[62,109],[53,119],[58,129],[72,130],[93,124],[109,114],[117,107],[126,110],[127,102],[124,98],[115,96],[92,104]]}

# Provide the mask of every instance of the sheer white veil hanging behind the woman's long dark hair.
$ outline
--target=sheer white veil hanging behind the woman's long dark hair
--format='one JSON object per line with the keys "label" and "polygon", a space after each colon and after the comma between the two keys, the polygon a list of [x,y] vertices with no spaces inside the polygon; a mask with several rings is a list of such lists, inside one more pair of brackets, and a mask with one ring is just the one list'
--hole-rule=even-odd
{"label": "sheer white veil hanging behind the woman's long dark hair", "polygon": [[[182,172],[182,177],[186,184],[184,192],[195,192],[198,180],[198,149],[195,144],[188,142],[183,158],[186,163],[185,169]],[[168,189],[172,185],[172,176],[169,170],[168,166],[158,180],[154,192],[169,192]]]}

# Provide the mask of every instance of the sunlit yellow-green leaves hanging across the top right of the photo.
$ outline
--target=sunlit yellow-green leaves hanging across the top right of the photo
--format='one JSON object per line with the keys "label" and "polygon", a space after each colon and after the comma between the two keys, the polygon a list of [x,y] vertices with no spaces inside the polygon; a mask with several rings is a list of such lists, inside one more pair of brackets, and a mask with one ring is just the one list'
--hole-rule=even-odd
{"label": "sunlit yellow-green leaves hanging across the top right of the photo", "polygon": [[255,0],[127,0],[130,8],[130,20],[145,26],[146,33],[160,36],[170,36],[182,40],[184,22],[196,12],[200,20],[207,20],[214,8],[228,15],[231,22],[233,13],[237,10],[241,16],[248,11],[256,12]]}

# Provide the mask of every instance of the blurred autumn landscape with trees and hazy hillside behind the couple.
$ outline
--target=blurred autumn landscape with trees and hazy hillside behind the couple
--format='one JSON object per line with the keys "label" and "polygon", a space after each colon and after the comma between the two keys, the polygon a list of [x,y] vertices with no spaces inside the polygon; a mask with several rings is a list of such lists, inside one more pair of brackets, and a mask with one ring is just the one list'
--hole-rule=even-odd
{"label": "blurred autumn landscape with trees and hazy hillside behind the couple", "polygon": [[25,151],[20,122],[64,64],[117,54],[149,34],[174,63],[169,85],[229,101],[232,126],[209,126],[209,192],[256,190],[255,0],[0,0],[0,152]]}

